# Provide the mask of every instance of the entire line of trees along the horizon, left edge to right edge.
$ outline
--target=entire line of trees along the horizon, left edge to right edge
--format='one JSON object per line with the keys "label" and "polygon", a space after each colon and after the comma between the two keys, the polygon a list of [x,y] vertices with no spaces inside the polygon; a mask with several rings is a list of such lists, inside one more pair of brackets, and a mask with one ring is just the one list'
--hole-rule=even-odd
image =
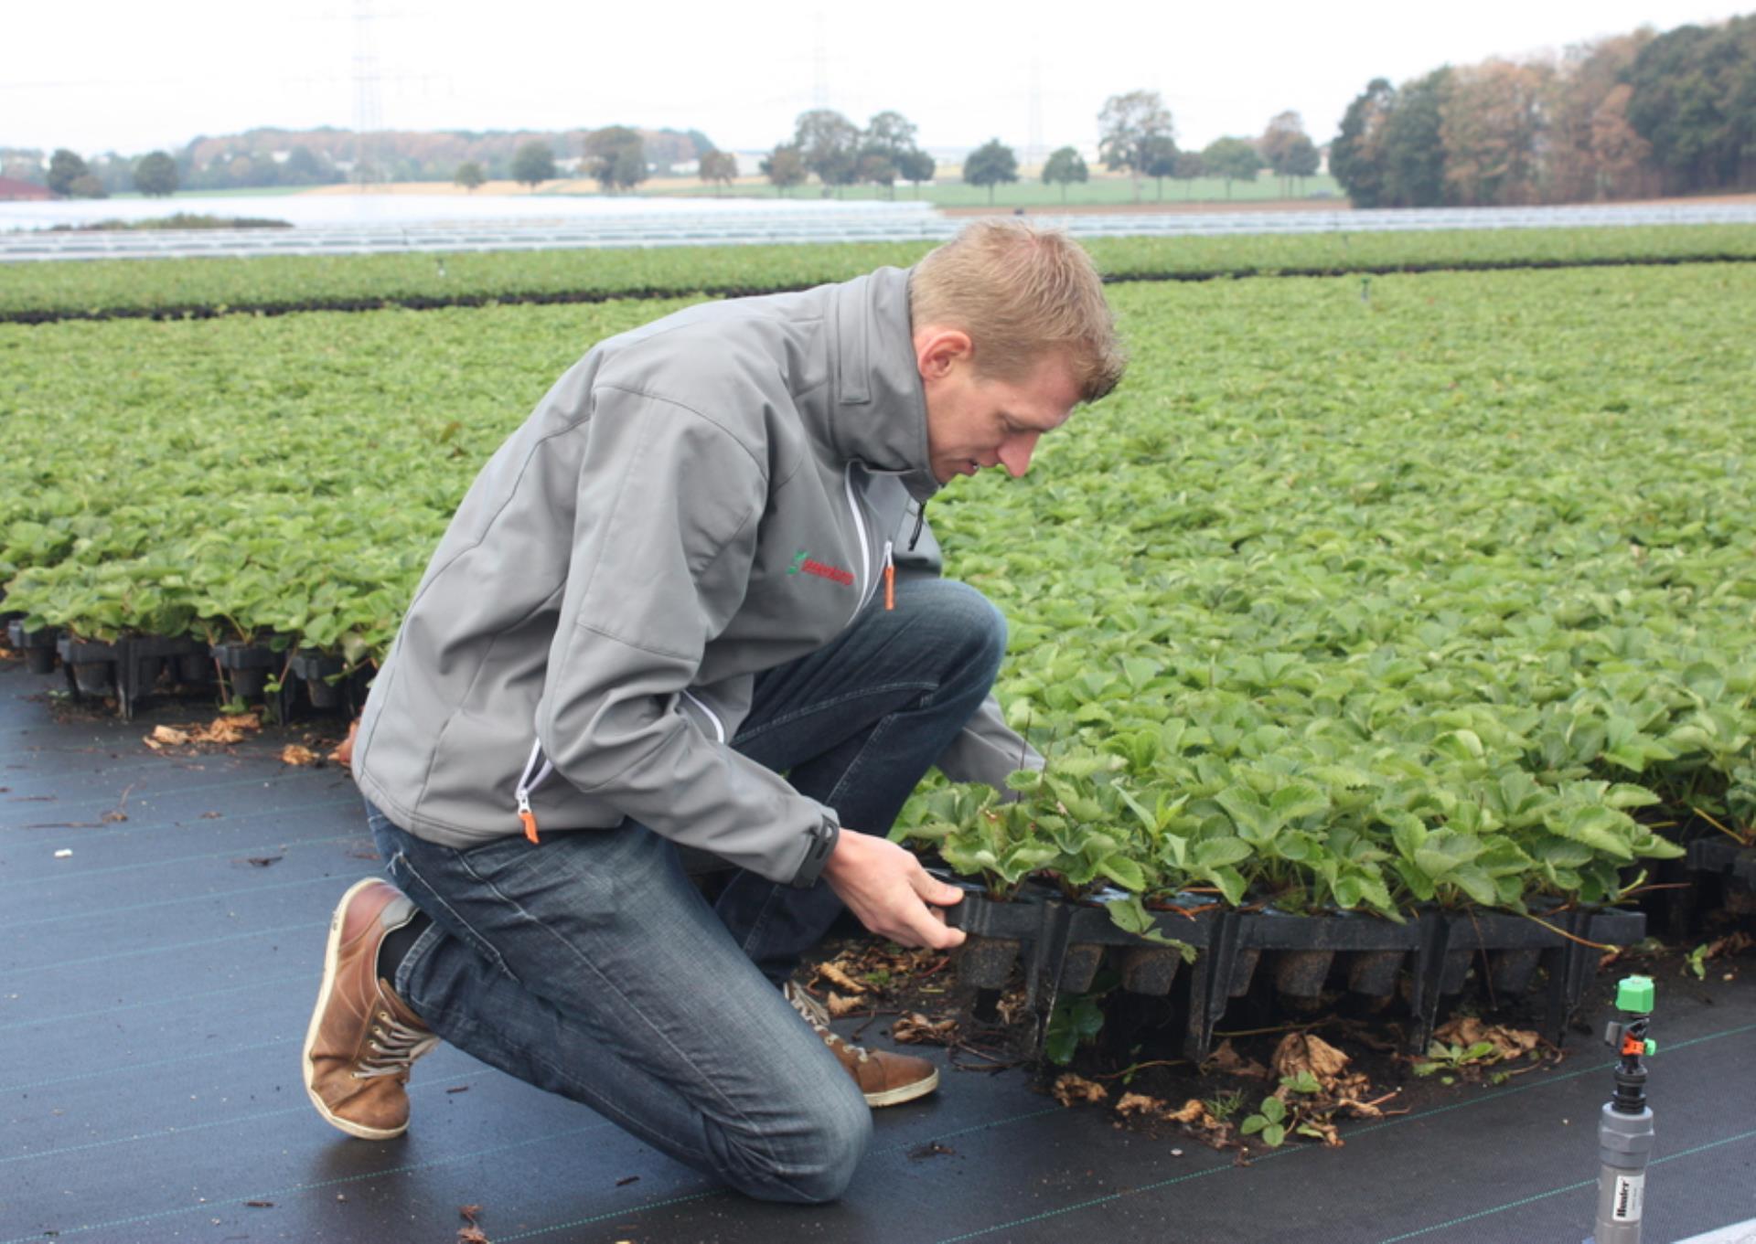
{"label": "entire line of trees along the horizon, left edge to right edge", "polygon": [[[253,133],[265,135],[263,144],[286,137]],[[811,109],[759,167],[783,195],[810,177],[824,193],[869,184],[894,197],[899,181],[918,193],[936,165],[917,135],[915,123],[897,111],[859,126],[832,109]],[[0,172],[47,181],[58,195],[130,186],[165,195],[349,175],[444,177],[469,189],[511,177],[534,188],[557,177],[562,163],[551,139],[529,133],[376,135],[365,149],[341,130],[299,137],[306,142],[290,151],[263,151],[246,135],[241,144],[197,139],[183,153],[155,151],[139,160],[111,153],[90,165],[63,149],[49,160],[46,177],[40,153],[0,151]],[[1229,135],[1182,149],[1162,97],[1145,89],[1110,97],[1098,114],[1098,137],[1101,163],[1133,179],[1136,200],[1148,179],[1157,182],[1159,198],[1166,179],[1192,186],[1196,177],[1224,179],[1231,197],[1234,181],[1254,181],[1264,168],[1291,193],[1321,167],[1296,112],[1277,114],[1256,137]],[[579,174],[611,193],[690,158],[716,191],[738,175],[738,160],[697,130],[604,126],[564,135],[562,146],[574,142],[583,153]],[[458,153],[467,156],[458,160]],[[1055,149],[1038,172],[1045,184],[1061,186],[1062,198],[1068,186],[1090,177],[1075,146]],[[1329,144],[1329,172],[1356,207],[1591,202],[1756,184],[1756,16],[1663,35],[1644,28],[1570,47],[1559,58],[1445,65],[1401,86],[1373,79]],[[1018,177],[1017,153],[999,139],[971,151],[962,165],[964,182],[985,186],[989,202],[996,186]]]}

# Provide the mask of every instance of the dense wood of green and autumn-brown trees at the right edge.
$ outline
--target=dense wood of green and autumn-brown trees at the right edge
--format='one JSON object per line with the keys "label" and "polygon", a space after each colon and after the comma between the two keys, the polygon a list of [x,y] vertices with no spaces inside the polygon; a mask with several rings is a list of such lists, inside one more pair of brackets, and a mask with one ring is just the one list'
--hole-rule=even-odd
{"label": "dense wood of green and autumn-brown trees at the right edge", "polygon": [[1356,207],[1521,205],[1756,182],[1756,16],[1559,58],[1442,67],[1349,105],[1329,172]]}

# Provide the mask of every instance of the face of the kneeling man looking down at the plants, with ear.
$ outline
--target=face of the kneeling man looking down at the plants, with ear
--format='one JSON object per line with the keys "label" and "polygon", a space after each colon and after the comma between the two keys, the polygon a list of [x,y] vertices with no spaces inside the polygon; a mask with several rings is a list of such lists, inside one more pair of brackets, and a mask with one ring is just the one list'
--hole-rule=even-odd
{"label": "face of the kneeling man looking down at the plants, with ear", "polygon": [[915,335],[927,393],[927,451],[932,475],[948,484],[983,467],[1018,477],[1045,432],[1054,432],[1080,400],[1066,360],[1048,356],[1022,381],[1001,381],[975,368],[969,339],[957,330]]}

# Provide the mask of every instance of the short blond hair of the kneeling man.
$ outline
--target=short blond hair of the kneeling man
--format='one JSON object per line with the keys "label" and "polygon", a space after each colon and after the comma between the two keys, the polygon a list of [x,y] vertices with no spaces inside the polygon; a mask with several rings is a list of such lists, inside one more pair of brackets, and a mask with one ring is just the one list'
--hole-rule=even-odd
{"label": "short blond hair of the kneeling man", "polygon": [[983,375],[1018,381],[1045,354],[1062,354],[1096,402],[1127,360],[1090,256],[1061,230],[983,219],[915,265],[908,286],[917,326],[961,328]]}

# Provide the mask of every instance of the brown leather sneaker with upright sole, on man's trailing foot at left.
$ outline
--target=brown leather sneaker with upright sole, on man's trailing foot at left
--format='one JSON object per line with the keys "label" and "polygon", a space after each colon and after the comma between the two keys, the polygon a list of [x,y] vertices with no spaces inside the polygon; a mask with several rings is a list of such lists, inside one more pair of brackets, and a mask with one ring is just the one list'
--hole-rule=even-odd
{"label": "brown leather sneaker with upright sole, on man's trailing foot at left", "polygon": [[385,933],[414,918],[388,881],[356,881],[330,918],[323,986],[306,1030],[306,1093],[348,1135],[390,1140],[409,1130],[409,1063],[439,1039],[378,976]]}

